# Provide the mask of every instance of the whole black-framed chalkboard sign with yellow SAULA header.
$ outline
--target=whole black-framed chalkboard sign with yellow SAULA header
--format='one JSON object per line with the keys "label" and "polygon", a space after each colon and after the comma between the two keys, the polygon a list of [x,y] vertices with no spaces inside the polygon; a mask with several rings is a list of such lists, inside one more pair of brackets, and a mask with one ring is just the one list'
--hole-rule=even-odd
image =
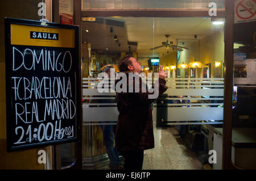
{"label": "whole black-framed chalkboard sign with yellow SAULA header", "polygon": [[7,151],[77,141],[79,27],[5,18]]}

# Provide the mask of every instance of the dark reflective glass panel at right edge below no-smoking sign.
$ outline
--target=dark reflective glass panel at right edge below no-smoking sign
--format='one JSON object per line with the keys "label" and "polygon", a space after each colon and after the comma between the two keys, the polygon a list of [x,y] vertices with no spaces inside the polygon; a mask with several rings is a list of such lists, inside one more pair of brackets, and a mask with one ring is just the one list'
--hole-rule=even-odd
{"label": "dark reflective glass panel at right edge below no-smoking sign", "polygon": [[255,25],[234,24],[232,162],[242,169],[256,169]]}

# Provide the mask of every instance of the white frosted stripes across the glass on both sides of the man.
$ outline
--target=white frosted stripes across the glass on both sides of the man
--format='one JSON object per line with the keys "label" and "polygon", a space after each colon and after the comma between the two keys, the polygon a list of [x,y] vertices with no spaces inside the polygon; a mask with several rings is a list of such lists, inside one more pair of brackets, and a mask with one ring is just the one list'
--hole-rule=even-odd
{"label": "white frosted stripes across the glass on both sides of the man", "polygon": [[[164,121],[168,125],[223,123],[223,78],[167,78],[166,80],[168,86],[168,90],[164,92],[166,96],[159,97],[158,103],[154,103],[155,121]],[[85,100],[82,104],[83,125],[116,124],[118,111],[115,92],[98,92],[98,82],[100,80],[97,78],[82,79],[82,95]],[[182,102],[179,103],[179,100]],[[157,115],[157,109],[161,108],[166,109],[167,116]]]}

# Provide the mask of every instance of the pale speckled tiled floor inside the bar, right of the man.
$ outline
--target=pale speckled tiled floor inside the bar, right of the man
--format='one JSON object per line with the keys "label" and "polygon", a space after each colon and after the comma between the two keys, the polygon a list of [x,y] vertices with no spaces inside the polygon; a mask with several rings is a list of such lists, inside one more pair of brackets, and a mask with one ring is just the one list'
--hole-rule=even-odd
{"label": "pale speckled tiled floor inside the bar, right of the man", "polygon": [[154,128],[155,148],[145,150],[143,170],[203,169],[196,154],[185,146],[175,128]]}

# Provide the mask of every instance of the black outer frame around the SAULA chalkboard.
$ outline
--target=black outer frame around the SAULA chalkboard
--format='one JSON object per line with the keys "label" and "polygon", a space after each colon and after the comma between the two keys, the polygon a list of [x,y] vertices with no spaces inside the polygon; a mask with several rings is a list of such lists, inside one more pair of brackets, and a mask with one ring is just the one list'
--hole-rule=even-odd
{"label": "black outer frame around the SAULA chalkboard", "polygon": [[[14,120],[14,113],[11,109],[13,106],[12,98],[11,98],[11,58],[12,58],[12,49],[11,49],[11,24],[20,24],[25,26],[36,26],[36,27],[44,27],[44,28],[62,28],[68,30],[75,31],[75,48],[73,49],[74,55],[72,60],[74,62],[75,72],[75,105],[76,105],[76,121],[74,137],[68,138],[65,140],[55,140],[55,141],[44,141],[43,143],[35,143],[35,144],[26,144],[13,146],[13,134],[15,134],[14,126],[12,121]],[[22,35],[21,35],[22,36]],[[81,128],[81,62],[79,60],[79,26],[72,26],[67,24],[57,24],[57,23],[48,23],[48,22],[40,22],[35,20],[26,20],[26,19],[16,19],[16,18],[5,18],[5,66],[6,66],[6,141],[7,141],[7,152],[19,151],[19,150],[27,150],[34,148],[43,148],[45,146],[51,145],[59,145],[70,142],[77,142],[81,140],[79,131]],[[42,46],[43,47],[43,46]],[[26,133],[26,132],[25,132]]]}

